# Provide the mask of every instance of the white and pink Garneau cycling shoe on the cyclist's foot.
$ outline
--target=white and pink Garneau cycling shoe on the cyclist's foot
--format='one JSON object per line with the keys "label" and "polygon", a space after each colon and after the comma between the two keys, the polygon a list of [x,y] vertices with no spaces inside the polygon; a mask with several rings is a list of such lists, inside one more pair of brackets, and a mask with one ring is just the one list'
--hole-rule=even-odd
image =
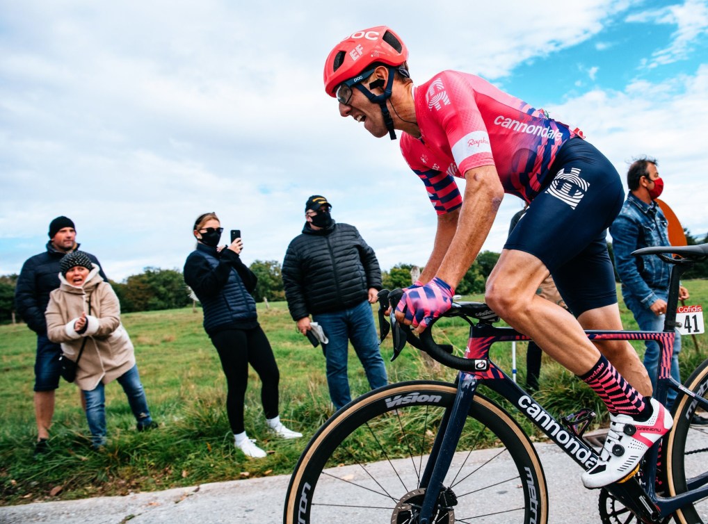
{"label": "white and pink Garneau cycling shoe on the cyclist's foot", "polygon": [[655,399],[651,399],[651,407],[654,411],[647,421],[610,414],[610,431],[600,451],[600,462],[582,475],[586,488],[600,488],[632,477],[644,453],[671,429],[673,419],[668,409]]}

